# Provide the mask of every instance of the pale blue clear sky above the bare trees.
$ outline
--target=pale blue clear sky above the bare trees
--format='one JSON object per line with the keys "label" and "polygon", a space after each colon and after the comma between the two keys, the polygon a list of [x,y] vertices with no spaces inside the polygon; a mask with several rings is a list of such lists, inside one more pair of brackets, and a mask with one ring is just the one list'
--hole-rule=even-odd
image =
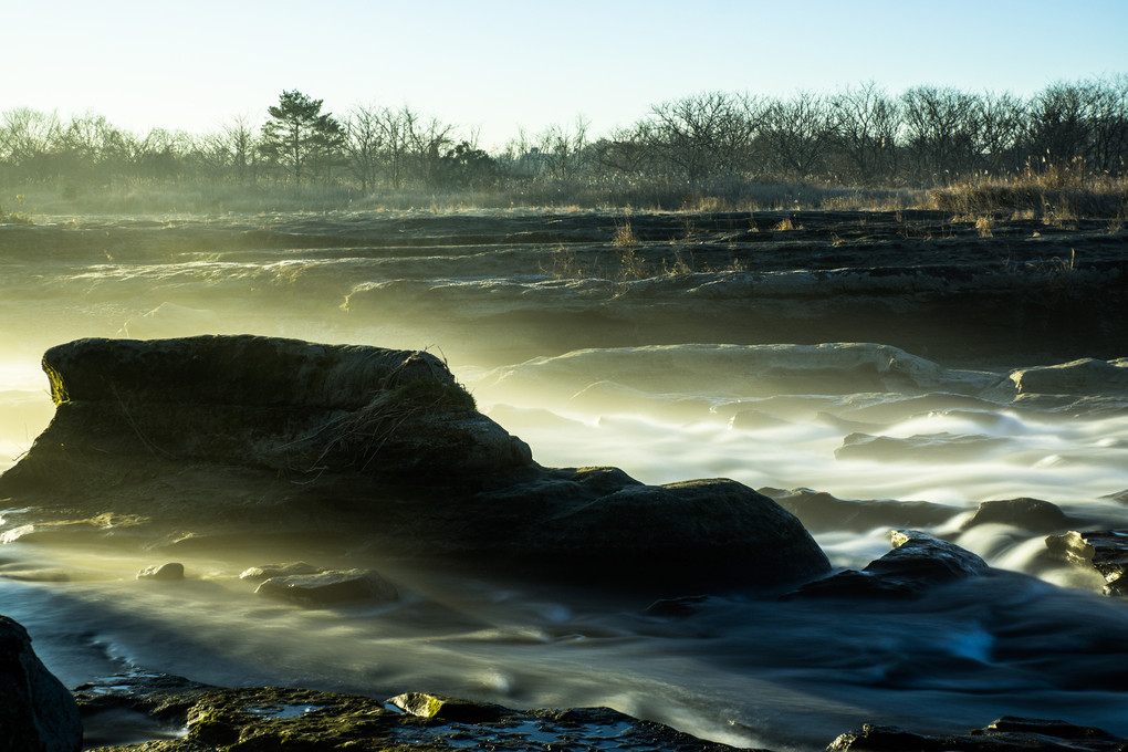
{"label": "pale blue clear sky above the bare trees", "polygon": [[1128,0],[0,0],[0,113],[202,134],[298,89],[495,148],[576,116],[606,135],[704,91],[1028,96],[1128,73],[1126,38]]}

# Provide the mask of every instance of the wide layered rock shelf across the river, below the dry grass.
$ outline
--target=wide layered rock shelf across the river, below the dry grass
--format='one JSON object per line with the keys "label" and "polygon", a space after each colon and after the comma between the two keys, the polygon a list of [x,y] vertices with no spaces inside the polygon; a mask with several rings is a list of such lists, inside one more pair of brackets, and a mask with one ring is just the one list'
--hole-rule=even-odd
{"label": "wide layered rock shelf across the river, below the dry grass", "polygon": [[[429,340],[482,337],[508,353],[502,362],[710,342],[717,330],[735,344],[884,342],[933,357],[1128,350],[1125,244],[1105,221],[999,216],[986,237],[975,218],[946,212],[645,212],[629,218],[633,278],[608,253],[624,219],[513,210],[7,225],[14,260],[50,260],[61,274],[10,285],[0,307],[44,283],[89,302],[124,289],[140,307],[126,334],[146,337],[224,321],[231,300],[272,316],[301,307],[418,327]],[[777,229],[785,220],[792,229]],[[91,284],[68,267],[89,264],[95,244],[114,267]],[[167,307],[209,274],[190,268],[201,260],[223,265],[214,289]]]}

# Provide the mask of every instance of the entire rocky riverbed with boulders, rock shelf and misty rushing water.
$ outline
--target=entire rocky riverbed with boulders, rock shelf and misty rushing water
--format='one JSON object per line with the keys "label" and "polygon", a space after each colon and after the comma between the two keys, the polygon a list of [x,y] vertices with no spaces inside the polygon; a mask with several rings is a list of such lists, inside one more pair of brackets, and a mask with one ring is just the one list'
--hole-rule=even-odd
{"label": "entire rocky riverbed with boulders, rock shelf and misty rushing water", "polygon": [[91,745],[1128,734],[1112,222],[58,218],[0,264],[0,595]]}

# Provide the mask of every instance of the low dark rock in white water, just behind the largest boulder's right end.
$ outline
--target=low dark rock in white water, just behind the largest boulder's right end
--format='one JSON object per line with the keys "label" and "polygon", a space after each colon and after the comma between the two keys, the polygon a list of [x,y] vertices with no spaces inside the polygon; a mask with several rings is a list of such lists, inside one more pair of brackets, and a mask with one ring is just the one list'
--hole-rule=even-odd
{"label": "low dark rock in white water, just behind the largest boulder's right end", "polygon": [[874,528],[926,528],[937,525],[959,514],[959,510],[933,502],[899,502],[895,499],[837,498],[810,488],[781,490],[761,488],[808,528],[864,532]]}

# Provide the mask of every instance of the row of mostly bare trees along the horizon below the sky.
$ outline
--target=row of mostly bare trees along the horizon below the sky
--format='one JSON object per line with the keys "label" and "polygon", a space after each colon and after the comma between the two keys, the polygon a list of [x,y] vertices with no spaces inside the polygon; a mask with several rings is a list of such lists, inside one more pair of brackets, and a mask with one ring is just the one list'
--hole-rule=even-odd
{"label": "row of mostly bare trees along the horizon below the sky", "polygon": [[615,179],[931,187],[1063,163],[1123,176],[1128,76],[1058,82],[1030,97],[938,86],[891,95],[873,82],[786,98],[703,92],[598,138],[578,117],[519,132],[492,152],[477,141],[407,106],[358,105],[335,116],[297,90],[283,91],[261,124],[237,117],[208,134],[136,135],[94,113],[63,121],[16,108],[0,114],[0,185],[205,179],[367,194]]}

